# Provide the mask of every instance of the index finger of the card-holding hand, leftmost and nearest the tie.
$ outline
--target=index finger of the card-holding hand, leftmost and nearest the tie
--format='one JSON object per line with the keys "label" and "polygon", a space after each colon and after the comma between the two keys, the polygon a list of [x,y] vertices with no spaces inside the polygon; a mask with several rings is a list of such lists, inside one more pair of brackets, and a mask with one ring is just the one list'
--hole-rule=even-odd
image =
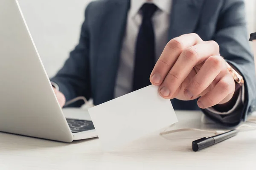
{"label": "index finger of the card-holding hand, leftmost and nearest the tie", "polygon": [[175,64],[177,58],[185,48],[191,47],[198,42],[202,42],[197,34],[184,34],[180,37],[170,40],[163,50],[160,58],[150,76],[150,81],[153,85],[162,84],[166,75]]}

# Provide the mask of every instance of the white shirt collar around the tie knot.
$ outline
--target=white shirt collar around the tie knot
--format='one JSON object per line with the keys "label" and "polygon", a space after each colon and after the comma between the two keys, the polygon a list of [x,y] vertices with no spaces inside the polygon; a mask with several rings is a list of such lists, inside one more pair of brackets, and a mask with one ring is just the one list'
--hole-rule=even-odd
{"label": "white shirt collar around the tie knot", "polygon": [[170,14],[172,0],[131,0],[131,16],[134,17],[144,3],[154,3],[161,11]]}

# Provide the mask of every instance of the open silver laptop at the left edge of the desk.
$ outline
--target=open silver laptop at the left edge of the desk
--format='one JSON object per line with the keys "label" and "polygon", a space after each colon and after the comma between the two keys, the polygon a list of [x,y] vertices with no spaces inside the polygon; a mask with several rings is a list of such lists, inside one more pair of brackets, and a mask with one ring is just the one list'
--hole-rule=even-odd
{"label": "open silver laptop at the left edge of the desk", "polygon": [[61,142],[97,137],[90,120],[64,117],[17,0],[0,0],[0,131]]}

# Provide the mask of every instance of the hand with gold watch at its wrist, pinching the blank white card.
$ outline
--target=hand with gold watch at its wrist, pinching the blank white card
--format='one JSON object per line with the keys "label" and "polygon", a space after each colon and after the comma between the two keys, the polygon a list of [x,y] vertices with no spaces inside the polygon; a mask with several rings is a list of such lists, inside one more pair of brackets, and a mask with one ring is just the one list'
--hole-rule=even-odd
{"label": "hand with gold watch at its wrist, pinching the blank white card", "polygon": [[170,40],[150,76],[165,99],[198,99],[200,108],[224,104],[232,99],[235,82],[220,56],[215,41],[203,41],[197,34]]}

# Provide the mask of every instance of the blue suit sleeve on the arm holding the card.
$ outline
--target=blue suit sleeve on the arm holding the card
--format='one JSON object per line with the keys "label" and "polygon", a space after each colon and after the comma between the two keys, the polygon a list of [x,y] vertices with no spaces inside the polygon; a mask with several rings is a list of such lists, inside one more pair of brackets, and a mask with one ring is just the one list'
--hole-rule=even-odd
{"label": "blue suit sleeve on the arm holding the card", "polygon": [[224,125],[237,125],[255,110],[256,76],[253,55],[247,39],[243,0],[224,0],[213,40],[220,46],[220,54],[244,77],[244,102],[228,115],[203,110],[205,115]]}

